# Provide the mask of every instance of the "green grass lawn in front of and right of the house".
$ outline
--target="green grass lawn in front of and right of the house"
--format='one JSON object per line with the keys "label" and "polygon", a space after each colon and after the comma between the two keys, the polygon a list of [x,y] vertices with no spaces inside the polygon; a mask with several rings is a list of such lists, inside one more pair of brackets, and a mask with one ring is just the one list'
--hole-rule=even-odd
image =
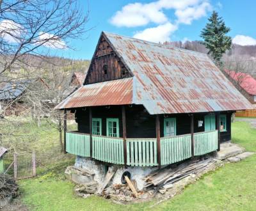
{"label": "green grass lawn in front of and right of the house", "polygon": [[[234,143],[256,152],[256,129],[249,123],[232,124]],[[65,164],[63,164],[65,166]],[[74,185],[50,171],[35,179],[21,180],[22,203],[31,210],[256,210],[256,155],[226,164],[188,185],[175,198],[152,207],[156,201],[116,205],[97,196],[77,198]]]}

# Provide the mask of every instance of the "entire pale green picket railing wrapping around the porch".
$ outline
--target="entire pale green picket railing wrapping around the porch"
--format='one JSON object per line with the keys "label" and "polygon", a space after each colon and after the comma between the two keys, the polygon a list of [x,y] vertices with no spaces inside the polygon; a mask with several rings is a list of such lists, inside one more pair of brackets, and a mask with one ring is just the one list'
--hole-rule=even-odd
{"label": "entire pale green picket railing wrapping around the porch", "polygon": [[[90,140],[90,134],[66,132],[66,141],[66,151],[74,155],[92,157],[111,164],[159,166],[189,159],[192,157],[192,147],[195,156],[214,152],[218,149],[218,130],[198,132],[193,136],[185,134],[161,137],[159,151],[157,151],[157,138],[124,140],[122,137],[92,135]],[[157,162],[158,153],[161,164]]]}

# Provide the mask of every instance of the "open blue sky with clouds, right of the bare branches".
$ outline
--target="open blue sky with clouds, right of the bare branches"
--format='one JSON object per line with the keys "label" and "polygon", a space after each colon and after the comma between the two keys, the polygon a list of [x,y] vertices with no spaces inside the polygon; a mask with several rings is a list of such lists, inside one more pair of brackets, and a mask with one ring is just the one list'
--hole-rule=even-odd
{"label": "open blue sky with clouds, right of the bare branches", "polygon": [[256,45],[256,1],[214,0],[97,0],[82,1],[90,7],[91,29],[72,40],[76,51],[58,50],[56,54],[72,59],[91,59],[101,31],[135,36],[153,42],[164,40],[201,40],[200,31],[212,10],[216,10],[231,31],[228,35],[241,45]]}

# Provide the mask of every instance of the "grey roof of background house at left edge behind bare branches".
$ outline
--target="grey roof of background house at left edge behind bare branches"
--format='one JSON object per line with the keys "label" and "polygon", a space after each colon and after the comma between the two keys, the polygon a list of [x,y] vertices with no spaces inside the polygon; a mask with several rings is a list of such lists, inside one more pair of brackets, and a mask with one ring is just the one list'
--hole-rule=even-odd
{"label": "grey roof of background house at left edge behind bare branches", "polygon": [[29,80],[4,82],[0,86],[0,100],[13,100],[19,97],[29,86]]}

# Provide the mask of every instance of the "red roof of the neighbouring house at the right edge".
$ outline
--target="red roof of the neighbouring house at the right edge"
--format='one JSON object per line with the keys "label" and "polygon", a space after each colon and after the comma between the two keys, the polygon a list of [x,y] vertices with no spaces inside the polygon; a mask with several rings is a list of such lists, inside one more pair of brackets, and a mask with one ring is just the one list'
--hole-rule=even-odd
{"label": "red roof of the neighbouring house at the right edge", "polygon": [[252,75],[233,70],[225,70],[225,72],[227,72],[227,74],[248,94],[256,95],[256,79],[254,79]]}

